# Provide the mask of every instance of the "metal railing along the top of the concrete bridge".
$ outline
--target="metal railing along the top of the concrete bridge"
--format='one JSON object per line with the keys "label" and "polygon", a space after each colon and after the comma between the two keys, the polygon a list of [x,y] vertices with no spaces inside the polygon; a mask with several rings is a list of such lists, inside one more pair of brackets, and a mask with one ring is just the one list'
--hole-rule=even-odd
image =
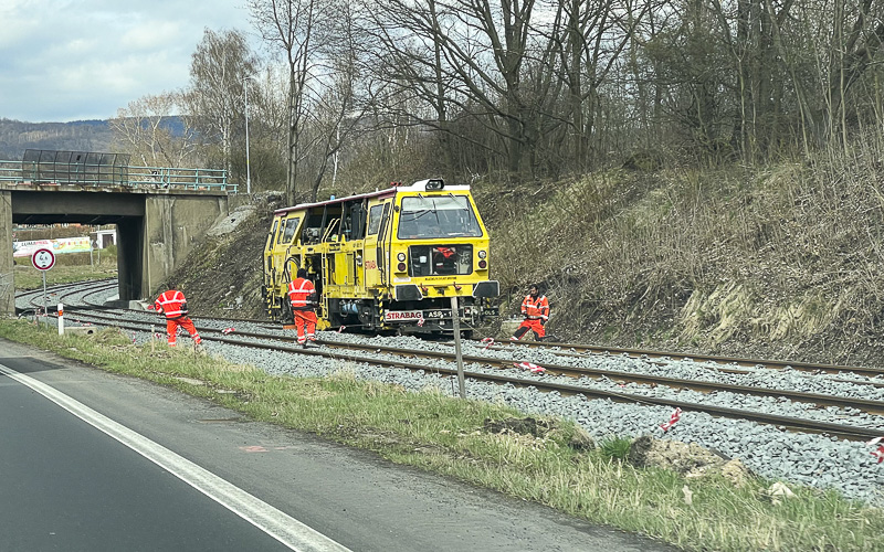
{"label": "metal railing along the top of the concrete bridge", "polygon": [[207,190],[236,193],[223,169],[130,167],[98,163],[0,161],[0,184]]}

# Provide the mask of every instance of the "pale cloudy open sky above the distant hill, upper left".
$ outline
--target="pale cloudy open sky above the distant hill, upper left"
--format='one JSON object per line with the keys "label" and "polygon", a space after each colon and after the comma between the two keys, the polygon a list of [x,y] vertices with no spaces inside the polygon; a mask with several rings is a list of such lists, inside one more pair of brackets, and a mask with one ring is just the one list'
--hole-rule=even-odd
{"label": "pale cloudy open sky above the distant hill, upper left", "polygon": [[204,29],[251,33],[245,0],[0,0],[0,118],[108,119],[183,88]]}

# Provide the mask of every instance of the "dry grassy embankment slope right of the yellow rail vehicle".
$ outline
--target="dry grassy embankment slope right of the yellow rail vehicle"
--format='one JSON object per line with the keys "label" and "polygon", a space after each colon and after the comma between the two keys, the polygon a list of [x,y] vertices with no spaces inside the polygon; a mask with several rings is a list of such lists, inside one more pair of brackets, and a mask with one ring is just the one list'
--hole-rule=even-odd
{"label": "dry grassy embankment slope right of the yellow rail vehicle", "polygon": [[880,151],[872,139],[755,172],[609,171],[547,184],[546,201],[497,194],[504,312],[544,282],[548,328],[567,340],[881,363]]}

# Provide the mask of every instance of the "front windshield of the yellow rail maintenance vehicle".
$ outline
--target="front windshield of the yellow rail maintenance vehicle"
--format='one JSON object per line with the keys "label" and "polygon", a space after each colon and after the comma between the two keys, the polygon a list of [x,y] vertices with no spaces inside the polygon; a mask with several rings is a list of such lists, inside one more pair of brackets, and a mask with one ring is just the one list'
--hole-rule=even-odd
{"label": "front windshield of the yellow rail maintenance vehicle", "polygon": [[403,198],[400,240],[481,237],[482,227],[466,195]]}

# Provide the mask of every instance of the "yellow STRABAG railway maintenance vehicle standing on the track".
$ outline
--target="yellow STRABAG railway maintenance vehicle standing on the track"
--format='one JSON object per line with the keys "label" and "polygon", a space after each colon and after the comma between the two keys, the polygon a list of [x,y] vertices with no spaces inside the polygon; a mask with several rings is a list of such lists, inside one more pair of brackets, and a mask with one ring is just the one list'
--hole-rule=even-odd
{"label": "yellow STRABAG railway maintenance vehicle standing on the track", "polygon": [[452,335],[497,316],[488,233],[469,185],[441,179],[274,212],[264,247],[267,314],[288,323],[288,283],[304,267],[319,294],[317,327]]}

